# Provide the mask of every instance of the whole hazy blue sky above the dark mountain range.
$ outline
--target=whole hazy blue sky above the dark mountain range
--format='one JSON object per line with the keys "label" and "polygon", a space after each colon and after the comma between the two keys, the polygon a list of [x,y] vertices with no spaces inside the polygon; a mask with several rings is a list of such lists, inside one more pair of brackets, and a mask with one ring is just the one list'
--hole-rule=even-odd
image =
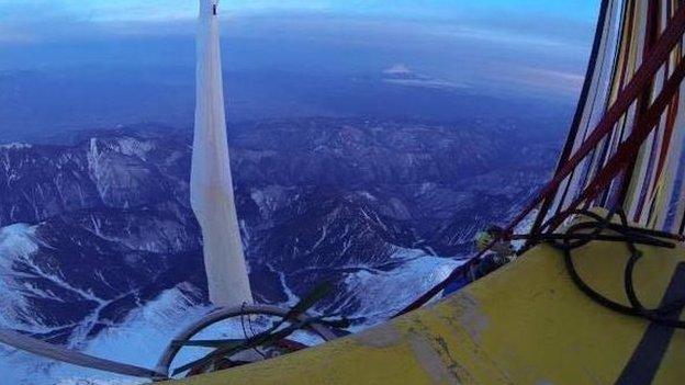
{"label": "whole hazy blue sky above the dark mountain range", "polygon": [[[228,112],[374,114],[384,99],[395,103],[385,113],[403,112],[418,110],[419,88],[426,114],[412,116],[453,118],[452,100],[475,93],[570,110],[597,9],[598,0],[222,0]],[[0,131],[187,124],[195,16],[195,0],[0,0]],[[412,79],[388,79],[393,68]]]}

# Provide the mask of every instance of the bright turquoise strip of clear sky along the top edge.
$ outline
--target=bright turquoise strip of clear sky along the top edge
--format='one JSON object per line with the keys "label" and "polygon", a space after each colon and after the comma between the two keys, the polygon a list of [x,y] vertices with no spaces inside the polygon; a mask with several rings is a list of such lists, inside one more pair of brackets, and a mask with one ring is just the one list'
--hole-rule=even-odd
{"label": "bright turquoise strip of clear sky along the top edge", "polygon": [[[596,0],[223,0],[224,12],[311,10],[415,15],[507,12],[549,14],[585,20],[595,14]],[[189,18],[193,0],[2,0],[0,20],[75,18],[87,20],[150,20]]]}

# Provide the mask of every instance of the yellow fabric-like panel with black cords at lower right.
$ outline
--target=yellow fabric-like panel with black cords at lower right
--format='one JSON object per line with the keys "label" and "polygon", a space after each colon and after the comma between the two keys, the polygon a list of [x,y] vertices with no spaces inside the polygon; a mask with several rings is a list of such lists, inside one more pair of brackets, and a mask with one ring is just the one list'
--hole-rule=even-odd
{"label": "yellow fabric-like panel with black cords at lower right", "polygon": [[[636,287],[653,306],[685,250],[640,249]],[[624,244],[593,242],[575,256],[591,286],[625,301]],[[543,245],[434,306],[325,346],[178,384],[614,384],[648,325],[588,299],[560,252]],[[684,378],[685,331],[676,330],[654,384]]]}

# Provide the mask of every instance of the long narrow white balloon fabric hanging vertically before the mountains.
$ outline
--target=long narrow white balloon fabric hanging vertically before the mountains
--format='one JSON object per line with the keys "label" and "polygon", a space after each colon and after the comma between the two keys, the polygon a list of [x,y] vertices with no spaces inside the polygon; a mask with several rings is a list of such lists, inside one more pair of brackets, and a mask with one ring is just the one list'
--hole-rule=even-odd
{"label": "long narrow white balloon fabric hanging vertically before the mountains", "polygon": [[190,200],[202,227],[210,301],[252,303],[236,215],[218,43],[218,0],[200,0]]}

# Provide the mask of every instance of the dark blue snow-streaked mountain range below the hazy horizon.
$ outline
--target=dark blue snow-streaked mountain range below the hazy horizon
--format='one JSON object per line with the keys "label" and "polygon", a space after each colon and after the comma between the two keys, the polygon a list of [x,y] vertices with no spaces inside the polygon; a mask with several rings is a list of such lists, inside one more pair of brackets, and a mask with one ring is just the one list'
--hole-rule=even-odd
{"label": "dark blue snow-streaked mountain range below the hazy horizon", "polygon": [[[358,326],[388,317],[548,175],[554,146],[519,133],[360,118],[232,126],[256,299],[292,304],[329,281],[336,294],[318,312]],[[139,126],[1,146],[0,325],[153,365],[209,309],[190,143],[188,132]],[[16,383],[78,373],[3,348],[0,358]]]}

